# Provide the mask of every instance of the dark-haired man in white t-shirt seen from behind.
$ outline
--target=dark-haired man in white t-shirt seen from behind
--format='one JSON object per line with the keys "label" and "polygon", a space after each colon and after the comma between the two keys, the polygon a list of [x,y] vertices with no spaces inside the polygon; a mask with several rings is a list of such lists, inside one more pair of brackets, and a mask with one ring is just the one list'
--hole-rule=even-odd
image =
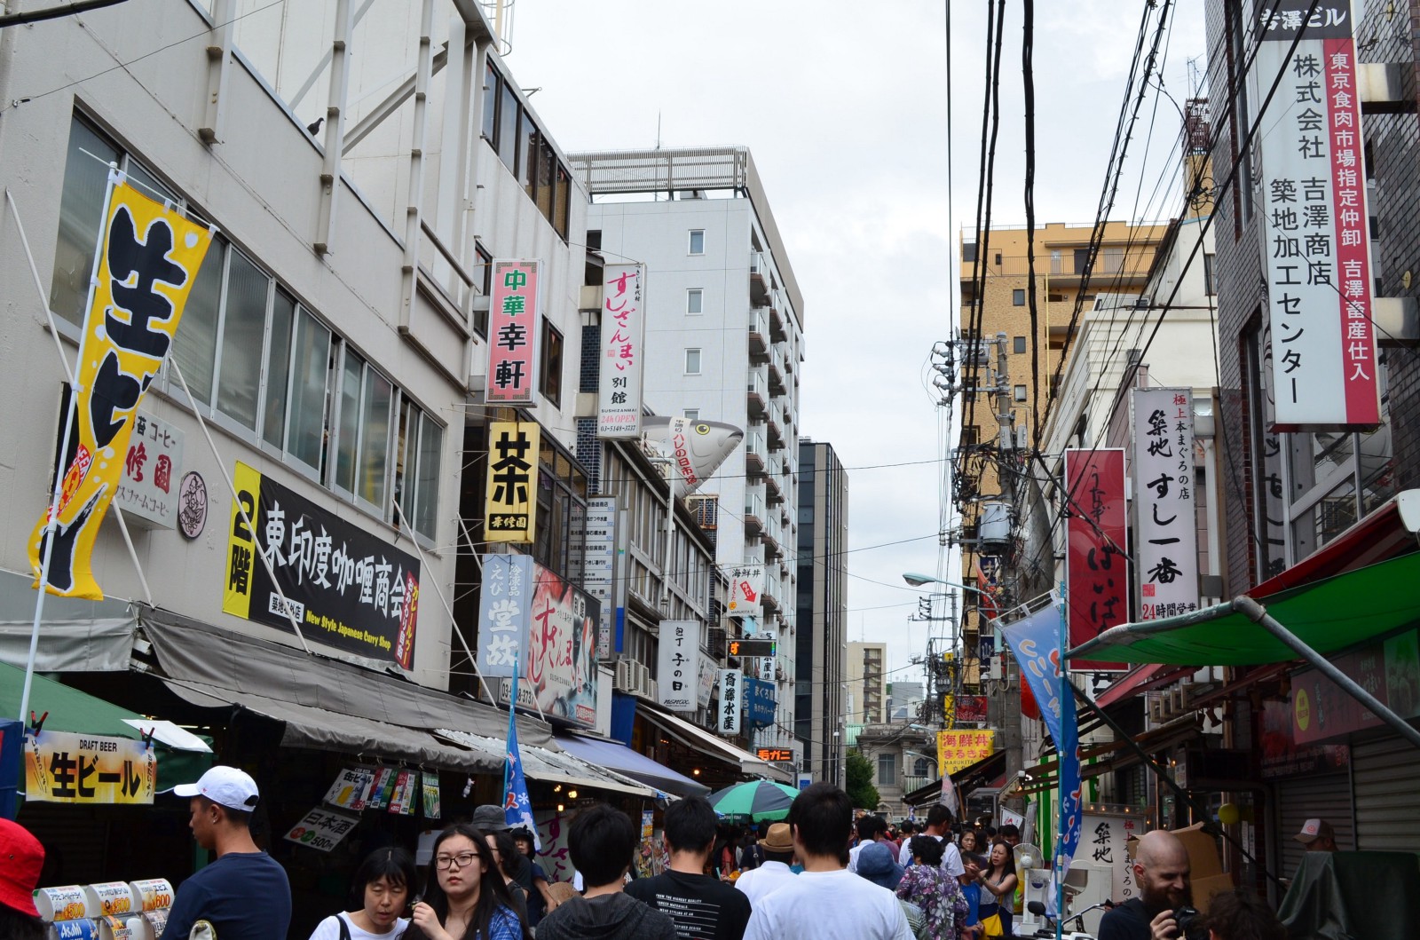
{"label": "dark-haired man in white t-shirt seen from behind", "polygon": [[804,872],[754,903],[744,940],[912,940],[897,896],[845,868],[848,794],[814,784],[794,798],[788,822]]}

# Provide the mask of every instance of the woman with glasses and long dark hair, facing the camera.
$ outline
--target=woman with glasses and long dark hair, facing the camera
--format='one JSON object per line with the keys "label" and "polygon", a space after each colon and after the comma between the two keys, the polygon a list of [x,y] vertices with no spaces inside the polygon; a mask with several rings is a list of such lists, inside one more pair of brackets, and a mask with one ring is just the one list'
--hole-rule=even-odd
{"label": "woman with glasses and long dark hair, facing the camera", "polygon": [[531,940],[484,834],[456,822],[435,839],[425,897],[405,940]]}

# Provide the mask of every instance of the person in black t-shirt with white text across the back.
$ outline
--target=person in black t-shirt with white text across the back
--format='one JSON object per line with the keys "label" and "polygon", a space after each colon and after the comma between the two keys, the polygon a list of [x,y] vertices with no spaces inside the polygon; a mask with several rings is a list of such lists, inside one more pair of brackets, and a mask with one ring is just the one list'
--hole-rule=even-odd
{"label": "person in black t-shirt with white text across the back", "polygon": [[666,809],[670,868],[626,886],[626,893],[669,914],[679,940],[741,940],[750,923],[750,899],[704,873],[714,846],[714,809],[690,797]]}

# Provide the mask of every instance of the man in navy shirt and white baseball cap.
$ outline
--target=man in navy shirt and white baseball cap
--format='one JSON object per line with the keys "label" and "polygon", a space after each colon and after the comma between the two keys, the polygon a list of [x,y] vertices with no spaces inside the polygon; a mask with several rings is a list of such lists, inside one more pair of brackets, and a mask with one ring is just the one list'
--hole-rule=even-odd
{"label": "man in navy shirt and white baseball cap", "polygon": [[222,940],[284,937],[291,885],[285,869],[251,841],[251,811],[260,799],[256,781],[219,764],[173,792],[190,798],[192,835],[217,860],[178,889],[165,936],[186,937],[196,922],[207,920]]}

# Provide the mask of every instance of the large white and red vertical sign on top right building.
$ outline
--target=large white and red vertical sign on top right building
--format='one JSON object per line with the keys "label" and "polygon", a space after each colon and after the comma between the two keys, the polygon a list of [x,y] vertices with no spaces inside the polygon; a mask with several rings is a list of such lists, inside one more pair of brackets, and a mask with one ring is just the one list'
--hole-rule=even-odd
{"label": "large white and red vertical sign on top right building", "polygon": [[1380,423],[1352,4],[1312,6],[1261,4],[1255,24],[1257,87],[1281,75],[1258,143],[1277,430]]}

